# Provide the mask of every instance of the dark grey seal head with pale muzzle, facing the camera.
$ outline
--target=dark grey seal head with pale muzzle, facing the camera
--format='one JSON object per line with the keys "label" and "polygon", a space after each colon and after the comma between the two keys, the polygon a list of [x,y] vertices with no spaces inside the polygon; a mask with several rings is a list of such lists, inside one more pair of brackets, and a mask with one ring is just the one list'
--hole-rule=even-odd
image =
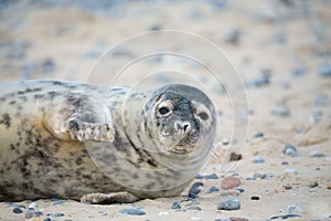
{"label": "dark grey seal head with pale muzzle, facing the camera", "polygon": [[159,150],[189,154],[206,145],[215,131],[215,110],[200,90],[174,84],[159,88],[146,104],[148,131]]}

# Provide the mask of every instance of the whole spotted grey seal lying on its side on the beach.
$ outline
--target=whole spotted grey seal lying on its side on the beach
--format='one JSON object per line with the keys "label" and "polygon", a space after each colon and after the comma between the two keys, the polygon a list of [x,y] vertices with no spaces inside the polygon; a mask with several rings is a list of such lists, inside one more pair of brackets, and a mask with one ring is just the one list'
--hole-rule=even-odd
{"label": "whole spotted grey seal lying on its side on the beach", "polygon": [[174,197],[212,149],[215,109],[200,90],[78,82],[0,85],[0,200],[124,203]]}

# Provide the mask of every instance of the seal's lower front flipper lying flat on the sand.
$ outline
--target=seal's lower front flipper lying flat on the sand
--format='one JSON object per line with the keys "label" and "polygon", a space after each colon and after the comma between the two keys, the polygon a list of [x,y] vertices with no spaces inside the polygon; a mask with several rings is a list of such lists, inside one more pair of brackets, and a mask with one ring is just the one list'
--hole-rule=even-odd
{"label": "seal's lower front flipper lying flat on the sand", "polygon": [[140,200],[130,192],[90,193],[81,198],[81,202],[90,204],[131,203]]}

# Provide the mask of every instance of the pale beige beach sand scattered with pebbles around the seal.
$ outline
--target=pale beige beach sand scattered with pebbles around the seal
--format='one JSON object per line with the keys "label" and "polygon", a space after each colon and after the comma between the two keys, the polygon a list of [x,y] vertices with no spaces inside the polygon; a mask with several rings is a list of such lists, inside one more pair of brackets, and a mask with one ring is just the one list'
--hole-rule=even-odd
{"label": "pale beige beach sand scattered with pebbles around the seal", "polygon": [[[30,220],[281,220],[288,214],[298,215],[289,220],[331,220],[331,1],[95,2],[1,3],[0,83],[57,78],[151,88],[199,81],[220,112],[214,155],[200,173],[215,173],[218,179],[194,180],[204,187],[193,202],[181,202],[180,210],[171,206],[186,199],[189,188],[177,198],[134,204],[90,206],[56,199],[40,199],[35,204],[0,202],[0,220],[24,220],[29,204],[42,212]],[[192,41],[173,43],[177,50],[192,51],[211,64],[224,63],[218,74],[228,80],[228,93],[200,65],[171,56],[137,62],[111,82],[117,64],[158,46],[151,36],[140,45],[117,50],[111,62],[97,63],[93,70],[98,57],[122,40],[163,29],[194,33],[220,46],[229,61],[210,55]],[[237,73],[225,67],[228,62]],[[166,73],[169,66],[186,75]],[[143,74],[160,71],[141,81]],[[239,109],[238,118],[233,107]],[[292,145],[299,156],[284,154],[286,145]],[[229,161],[231,152],[242,159]],[[263,162],[254,162],[256,157]],[[226,176],[239,178],[236,188],[244,191],[223,196],[221,182]],[[213,186],[220,190],[205,194]],[[217,210],[221,200],[233,198],[241,201],[238,210]],[[25,207],[22,213],[13,213],[20,206]],[[146,214],[118,212],[132,207]],[[47,215],[52,213],[63,217]]]}

